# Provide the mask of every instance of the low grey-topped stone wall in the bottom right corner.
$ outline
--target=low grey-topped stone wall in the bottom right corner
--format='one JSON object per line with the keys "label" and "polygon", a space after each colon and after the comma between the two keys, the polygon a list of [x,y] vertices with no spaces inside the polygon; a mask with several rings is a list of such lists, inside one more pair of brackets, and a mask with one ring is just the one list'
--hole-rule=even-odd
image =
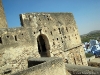
{"label": "low grey-topped stone wall in the bottom right corner", "polygon": [[65,64],[66,71],[70,72],[71,75],[100,75],[100,68],[83,66],[83,65],[72,65]]}

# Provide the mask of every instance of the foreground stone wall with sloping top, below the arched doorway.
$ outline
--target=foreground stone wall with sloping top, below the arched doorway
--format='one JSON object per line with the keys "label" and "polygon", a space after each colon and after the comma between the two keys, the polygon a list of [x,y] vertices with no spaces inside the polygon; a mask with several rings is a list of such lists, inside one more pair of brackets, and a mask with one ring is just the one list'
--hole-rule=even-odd
{"label": "foreground stone wall with sloping top, below the arched doorway", "polygon": [[31,62],[42,62],[12,75],[70,75],[66,74],[65,64],[60,58],[30,59]]}

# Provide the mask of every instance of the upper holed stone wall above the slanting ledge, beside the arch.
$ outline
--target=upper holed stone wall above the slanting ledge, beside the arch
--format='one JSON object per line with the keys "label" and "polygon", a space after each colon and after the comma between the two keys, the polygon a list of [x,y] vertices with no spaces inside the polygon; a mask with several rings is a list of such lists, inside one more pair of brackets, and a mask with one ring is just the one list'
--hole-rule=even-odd
{"label": "upper holed stone wall above the slanting ledge, beside the arch", "polygon": [[[21,24],[23,27],[32,27],[36,37],[45,34],[53,50],[69,49],[81,44],[72,13],[21,14]],[[39,30],[41,33],[38,33]]]}

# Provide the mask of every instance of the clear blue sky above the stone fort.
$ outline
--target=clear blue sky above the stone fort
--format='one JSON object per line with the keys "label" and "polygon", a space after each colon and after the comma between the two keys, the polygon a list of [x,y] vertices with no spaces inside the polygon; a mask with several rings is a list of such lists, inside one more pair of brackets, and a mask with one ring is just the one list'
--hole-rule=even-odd
{"label": "clear blue sky above the stone fort", "polygon": [[9,28],[21,27],[19,14],[71,12],[80,35],[100,30],[100,0],[2,0]]}

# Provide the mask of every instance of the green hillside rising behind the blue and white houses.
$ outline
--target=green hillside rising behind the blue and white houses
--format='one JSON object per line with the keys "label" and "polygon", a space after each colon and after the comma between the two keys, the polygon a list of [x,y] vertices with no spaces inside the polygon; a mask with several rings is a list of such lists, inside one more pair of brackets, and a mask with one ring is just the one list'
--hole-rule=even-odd
{"label": "green hillside rising behind the blue and white houses", "polygon": [[87,34],[81,35],[82,42],[89,42],[90,39],[95,39],[100,41],[100,30],[94,30]]}

